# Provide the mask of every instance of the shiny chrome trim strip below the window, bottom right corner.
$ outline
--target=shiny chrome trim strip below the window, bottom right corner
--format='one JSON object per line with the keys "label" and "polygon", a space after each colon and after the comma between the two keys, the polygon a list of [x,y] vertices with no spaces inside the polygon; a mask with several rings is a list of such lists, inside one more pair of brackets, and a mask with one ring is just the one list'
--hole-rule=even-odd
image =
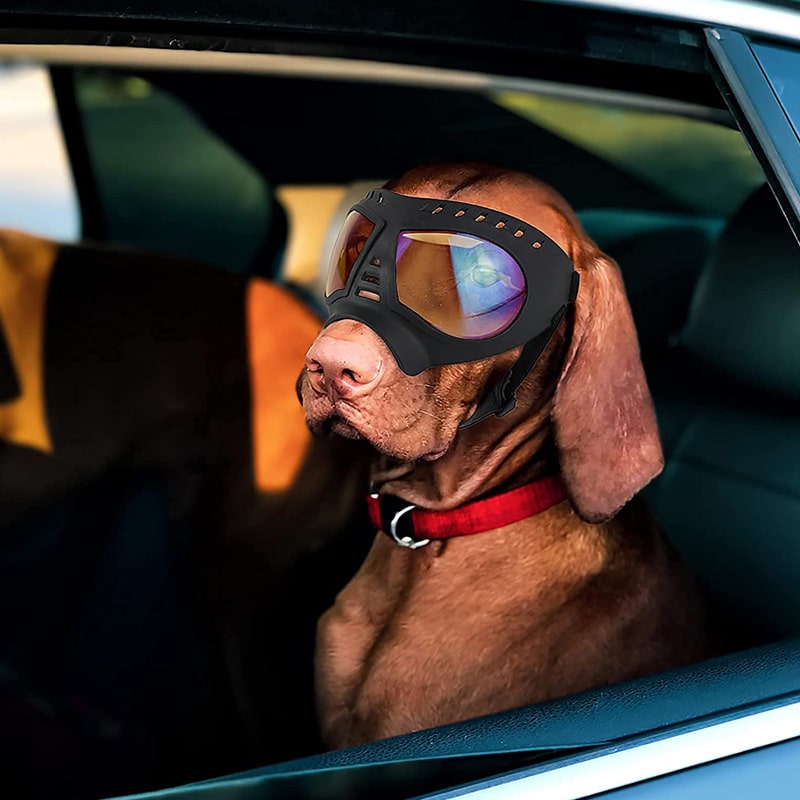
{"label": "shiny chrome trim strip below the window, bottom right corner", "polygon": [[677,734],[661,734],[600,753],[572,757],[566,765],[542,765],[535,774],[505,776],[491,785],[433,797],[459,800],[576,800],[682,769],[708,764],[800,737],[800,701],[755,711]]}

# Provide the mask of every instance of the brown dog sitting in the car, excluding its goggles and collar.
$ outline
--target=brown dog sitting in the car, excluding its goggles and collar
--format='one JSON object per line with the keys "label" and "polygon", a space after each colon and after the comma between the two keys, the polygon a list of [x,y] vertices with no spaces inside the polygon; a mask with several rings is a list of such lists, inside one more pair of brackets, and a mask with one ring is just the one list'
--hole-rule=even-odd
{"label": "brown dog sitting in the car, excluding its goggles and collar", "polygon": [[387,188],[498,209],[546,233],[580,274],[574,314],[516,409],[462,430],[520,348],[412,377],[370,328],[334,322],[300,376],[310,428],[369,441],[376,491],[422,509],[558,472],[568,501],[415,550],[379,532],[319,622],[325,741],[349,746],[703,658],[700,593],[632,500],[662,453],[616,264],[564,199],[526,174],[434,165]]}

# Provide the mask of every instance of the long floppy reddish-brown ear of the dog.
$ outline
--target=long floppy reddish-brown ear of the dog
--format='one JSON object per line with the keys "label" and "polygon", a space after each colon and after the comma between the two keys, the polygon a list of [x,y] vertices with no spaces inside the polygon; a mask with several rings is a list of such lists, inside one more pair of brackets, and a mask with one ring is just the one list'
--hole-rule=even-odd
{"label": "long floppy reddish-brown ear of the dog", "polygon": [[584,520],[601,522],[658,475],[664,461],[619,268],[594,248],[577,268],[572,338],[552,415],[572,504]]}

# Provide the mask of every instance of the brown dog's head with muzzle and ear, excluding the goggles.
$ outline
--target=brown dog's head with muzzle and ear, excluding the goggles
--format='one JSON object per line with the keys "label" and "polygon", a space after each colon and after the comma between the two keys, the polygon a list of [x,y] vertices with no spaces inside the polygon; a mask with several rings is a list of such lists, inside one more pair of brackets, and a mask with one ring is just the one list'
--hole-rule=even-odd
{"label": "brown dog's head with muzzle and ear, excluding the goggles", "polygon": [[580,275],[574,311],[518,393],[515,411],[468,430],[462,423],[519,357],[490,358],[407,375],[367,325],[341,319],[324,327],[298,382],[317,434],[368,440],[404,462],[441,459],[465,436],[491,426],[552,423],[562,476],[586,520],[613,516],[662,468],[652,401],[616,264],[587,237],[566,201],[529,175],[473,164],[419,167],[387,185],[416,197],[457,199],[494,208],[545,233]]}

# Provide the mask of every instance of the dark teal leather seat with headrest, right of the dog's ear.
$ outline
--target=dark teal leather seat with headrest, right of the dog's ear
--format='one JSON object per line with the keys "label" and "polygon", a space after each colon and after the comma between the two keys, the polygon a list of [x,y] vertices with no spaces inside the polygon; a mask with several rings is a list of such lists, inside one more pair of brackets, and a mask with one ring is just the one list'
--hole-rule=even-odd
{"label": "dark teal leather seat with headrest, right of the dog's ear", "polygon": [[767,186],[731,218],[649,372],[669,538],[766,638],[800,632],[800,251]]}

